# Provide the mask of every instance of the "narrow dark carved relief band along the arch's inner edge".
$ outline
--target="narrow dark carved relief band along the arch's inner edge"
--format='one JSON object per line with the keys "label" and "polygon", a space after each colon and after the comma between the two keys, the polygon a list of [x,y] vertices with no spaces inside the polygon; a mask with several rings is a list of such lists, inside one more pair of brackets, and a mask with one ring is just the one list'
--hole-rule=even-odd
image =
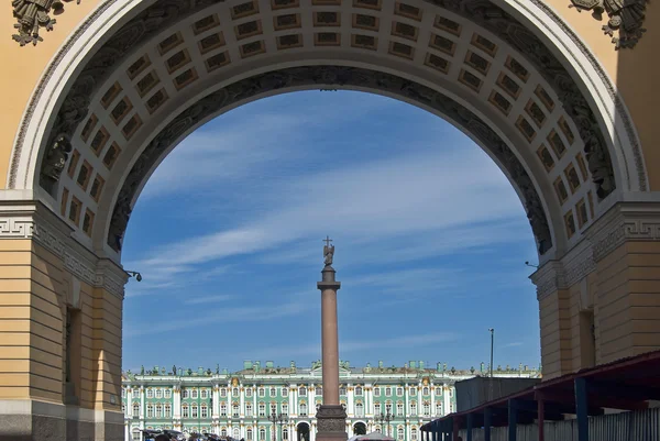
{"label": "narrow dark carved relief band along the arch's inner edge", "polygon": [[[245,78],[208,95],[182,112],[152,140],[129,173],[114,207],[108,244],[116,251],[121,250],[121,241],[131,214],[135,191],[151,168],[160,161],[161,155],[167,152],[173,143],[178,142],[184,134],[222,107],[284,87],[307,85],[319,87],[339,85],[386,90],[440,110],[449,119],[471,131],[501,161],[524,197],[539,253],[544,254],[552,247],[548,220],[531,178],[506,143],[479,117],[431,88],[391,74],[340,66],[294,67]],[[332,254],[329,250],[323,250],[323,256],[326,263],[332,263]]]}

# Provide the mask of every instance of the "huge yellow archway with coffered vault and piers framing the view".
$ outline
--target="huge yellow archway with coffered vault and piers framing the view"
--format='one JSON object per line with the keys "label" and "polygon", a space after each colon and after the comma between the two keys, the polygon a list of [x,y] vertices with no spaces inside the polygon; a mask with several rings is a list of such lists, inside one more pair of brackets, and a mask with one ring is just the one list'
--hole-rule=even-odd
{"label": "huge yellow archway with coffered vault and piers framing the view", "polygon": [[131,209],[196,128],[295,90],[393,97],[487,152],[538,245],[546,378],[660,346],[657,4],[14,0],[11,9],[0,14],[0,440],[122,439]]}

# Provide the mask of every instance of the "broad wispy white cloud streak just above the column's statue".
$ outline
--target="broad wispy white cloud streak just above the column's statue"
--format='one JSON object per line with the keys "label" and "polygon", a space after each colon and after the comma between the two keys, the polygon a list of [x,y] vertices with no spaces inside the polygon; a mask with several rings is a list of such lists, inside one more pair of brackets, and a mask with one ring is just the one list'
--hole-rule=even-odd
{"label": "broad wispy white cloud streak just above the column's statue", "polygon": [[[436,243],[450,249],[499,243],[502,236],[483,224],[508,227],[522,209],[504,176],[477,153],[461,152],[457,158],[453,152],[449,158],[438,151],[387,158],[288,183],[271,195],[278,199],[278,209],[234,229],[161,246],[141,264],[185,267],[273,250],[328,231],[381,243],[388,242],[381,238],[443,233]],[[524,235],[531,239],[530,232]],[[411,254],[428,242],[418,241]],[[397,258],[400,251],[397,247]]]}

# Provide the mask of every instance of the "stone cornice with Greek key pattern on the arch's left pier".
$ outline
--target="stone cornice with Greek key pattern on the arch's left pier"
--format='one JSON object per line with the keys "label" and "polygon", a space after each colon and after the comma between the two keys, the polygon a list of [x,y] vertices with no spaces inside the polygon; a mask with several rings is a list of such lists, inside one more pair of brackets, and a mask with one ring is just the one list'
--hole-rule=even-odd
{"label": "stone cornice with Greek key pattern on the arch's left pier", "polygon": [[70,274],[123,299],[128,274],[110,260],[99,258],[79,245],[72,232],[41,202],[12,201],[0,206],[0,240],[34,240],[62,258]]}

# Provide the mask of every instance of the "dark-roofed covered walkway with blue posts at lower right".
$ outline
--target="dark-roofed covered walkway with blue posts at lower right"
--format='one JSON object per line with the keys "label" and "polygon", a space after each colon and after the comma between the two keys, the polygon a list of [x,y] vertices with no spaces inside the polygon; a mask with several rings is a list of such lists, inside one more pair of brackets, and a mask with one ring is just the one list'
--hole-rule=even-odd
{"label": "dark-roofed covered walkway with blue posts at lower right", "polygon": [[[535,439],[554,441],[546,439],[544,422],[566,419],[574,420],[571,427],[576,429],[576,433],[572,439],[590,441],[595,440],[590,437],[590,417],[622,410],[642,411],[653,407],[654,400],[660,400],[660,351],[568,374],[430,421],[421,427],[422,441],[458,441],[461,438],[463,441],[476,441],[477,431],[473,429],[479,429],[480,440],[491,441],[493,428],[501,427],[507,428],[508,441],[524,441],[518,439],[518,426],[522,425],[537,427]],[[630,440],[660,439],[658,415],[639,412],[641,418],[631,416],[634,423],[628,433],[622,436]],[[464,436],[460,436],[463,430]],[[598,441],[605,439],[598,438]]]}

